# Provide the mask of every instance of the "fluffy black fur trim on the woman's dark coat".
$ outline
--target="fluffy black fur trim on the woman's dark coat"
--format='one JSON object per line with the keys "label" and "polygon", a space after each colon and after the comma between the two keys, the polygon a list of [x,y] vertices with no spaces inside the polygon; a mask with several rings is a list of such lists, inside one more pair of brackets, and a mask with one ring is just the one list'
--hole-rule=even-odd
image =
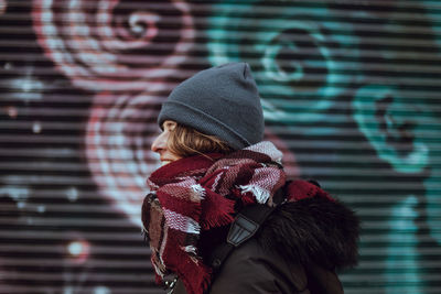
{"label": "fluffy black fur trim on the woman's dark coat", "polygon": [[280,205],[258,239],[288,260],[343,269],[357,263],[358,233],[354,211],[337,200],[313,197]]}

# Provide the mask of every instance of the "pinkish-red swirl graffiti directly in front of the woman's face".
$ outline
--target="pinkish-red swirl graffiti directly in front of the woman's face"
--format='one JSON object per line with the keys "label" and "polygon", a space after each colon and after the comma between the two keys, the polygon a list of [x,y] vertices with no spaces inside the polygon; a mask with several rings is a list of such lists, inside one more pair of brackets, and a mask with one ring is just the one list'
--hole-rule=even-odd
{"label": "pinkish-red swirl graffiti directly in front of the woman's face", "polygon": [[146,178],[159,167],[150,144],[159,132],[159,95],[101,92],[94,99],[86,134],[86,155],[95,183],[116,209],[140,224]]}

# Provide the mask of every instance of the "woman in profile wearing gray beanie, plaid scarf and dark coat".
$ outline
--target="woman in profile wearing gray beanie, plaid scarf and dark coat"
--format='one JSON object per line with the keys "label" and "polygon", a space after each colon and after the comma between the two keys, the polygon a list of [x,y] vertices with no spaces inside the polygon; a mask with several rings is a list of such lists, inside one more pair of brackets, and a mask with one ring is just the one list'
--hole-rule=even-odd
{"label": "woman in profile wearing gray beanie, plaid scarf and dark coat", "polygon": [[[163,104],[142,222],[157,282],[173,293],[343,293],[358,220],[318,184],[287,181],[263,139],[246,63],[200,72]],[[170,292],[170,293],[171,293]]]}

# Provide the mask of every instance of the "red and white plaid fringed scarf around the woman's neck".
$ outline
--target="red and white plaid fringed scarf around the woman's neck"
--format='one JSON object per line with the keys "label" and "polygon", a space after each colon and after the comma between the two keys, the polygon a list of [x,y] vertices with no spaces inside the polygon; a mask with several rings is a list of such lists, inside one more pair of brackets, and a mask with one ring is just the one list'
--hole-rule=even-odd
{"label": "red and white plaid fringed scarf around the woman's neck", "polygon": [[[281,156],[272,143],[260,142],[226,156],[181,159],[149,177],[151,193],[142,205],[142,222],[158,283],[175,273],[190,294],[208,287],[212,271],[196,248],[201,230],[230,224],[237,202],[271,206],[286,183]],[[311,184],[290,186],[289,200],[316,194]]]}

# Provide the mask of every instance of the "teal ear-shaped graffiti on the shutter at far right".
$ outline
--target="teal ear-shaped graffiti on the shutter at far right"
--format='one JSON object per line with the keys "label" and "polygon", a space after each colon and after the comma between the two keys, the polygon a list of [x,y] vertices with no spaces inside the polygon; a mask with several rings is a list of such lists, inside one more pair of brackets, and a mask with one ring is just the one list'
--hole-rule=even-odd
{"label": "teal ear-shaped graffiti on the shutter at far right", "polygon": [[399,173],[420,173],[429,163],[429,149],[422,141],[423,111],[397,87],[367,85],[352,102],[359,131],[377,152]]}

